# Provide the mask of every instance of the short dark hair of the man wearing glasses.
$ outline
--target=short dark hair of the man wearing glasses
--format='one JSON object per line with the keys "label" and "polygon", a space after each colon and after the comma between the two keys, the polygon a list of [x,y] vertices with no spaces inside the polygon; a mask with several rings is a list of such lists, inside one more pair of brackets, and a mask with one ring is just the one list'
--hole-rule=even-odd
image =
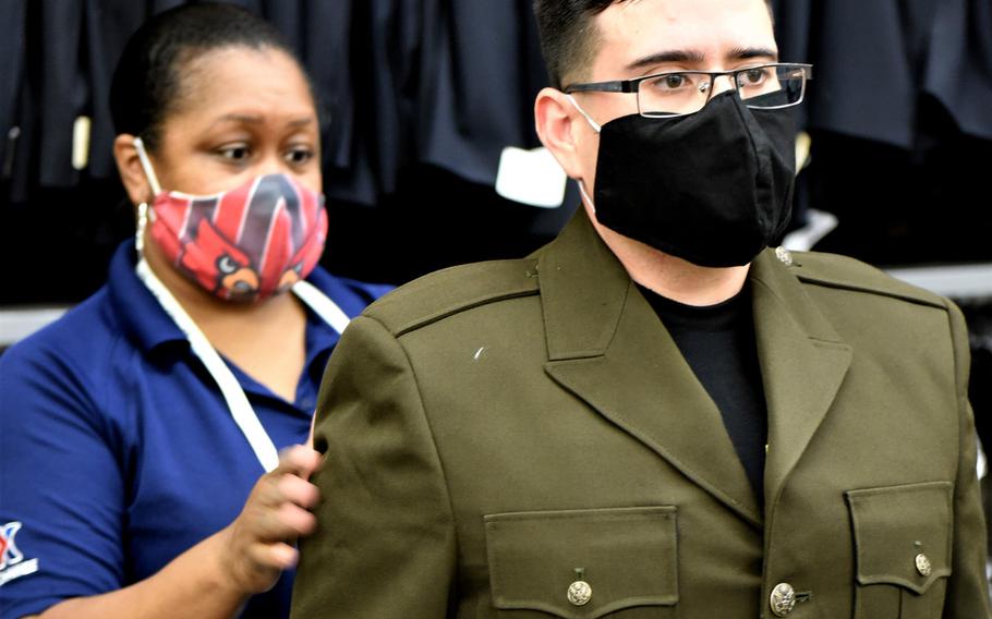
{"label": "short dark hair of the man wearing glasses", "polygon": [[[566,86],[577,68],[589,66],[596,51],[598,34],[593,17],[612,4],[627,0],[534,0],[534,15],[541,36],[541,52],[553,86]],[[772,1],[765,0],[769,12]]]}

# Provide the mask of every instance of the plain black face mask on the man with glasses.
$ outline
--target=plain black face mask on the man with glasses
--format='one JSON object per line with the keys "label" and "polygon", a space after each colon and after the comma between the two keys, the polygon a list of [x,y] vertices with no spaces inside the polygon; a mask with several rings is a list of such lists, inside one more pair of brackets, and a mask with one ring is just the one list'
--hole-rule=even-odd
{"label": "plain black face mask on the man with glasses", "polygon": [[613,120],[600,133],[596,219],[694,265],[746,265],[788,224],[795,138],[791,109],[750,109],[733,92],[691,116]]}

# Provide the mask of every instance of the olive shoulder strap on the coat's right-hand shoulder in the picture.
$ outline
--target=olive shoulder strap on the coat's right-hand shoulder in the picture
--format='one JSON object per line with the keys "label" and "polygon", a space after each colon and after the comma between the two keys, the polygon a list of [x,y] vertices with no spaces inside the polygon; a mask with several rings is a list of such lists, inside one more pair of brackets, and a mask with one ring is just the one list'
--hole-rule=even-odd
{"label": "olive shoulder strap on the coat's right-hand shoulder in the picture", "polygon": [[855,258],[820,252],[788,252],[788,254],[790,254],[789,262],[786,264],[789,266],[789,271],[802,283],[879,294],[932,307],[947,308],[944,298],[898,280]]}

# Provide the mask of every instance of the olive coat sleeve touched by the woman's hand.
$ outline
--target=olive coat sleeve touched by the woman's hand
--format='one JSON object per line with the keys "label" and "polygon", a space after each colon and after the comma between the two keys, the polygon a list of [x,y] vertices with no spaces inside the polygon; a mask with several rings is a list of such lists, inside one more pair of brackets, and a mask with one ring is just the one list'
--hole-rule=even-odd
{"label": "olive coat sleeve touched by the woman's hand", "polygon": [[301,546],[294,618],[445,617],[455,529],[413,368],[378,321],[352,320],[317,404],[318,529]]}

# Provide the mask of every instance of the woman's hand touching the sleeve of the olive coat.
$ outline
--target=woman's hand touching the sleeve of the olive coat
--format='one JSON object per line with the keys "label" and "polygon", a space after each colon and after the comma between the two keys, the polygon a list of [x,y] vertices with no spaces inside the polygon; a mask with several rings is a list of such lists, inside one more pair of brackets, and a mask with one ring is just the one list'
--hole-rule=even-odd
{"label": "woman's hand touching the sleeve of the olive coat", "polygon": [[282,570],[297,565],[297,538],[317,524],[309,510],[319,494],[309,480],[319,462],[320,454],[310,447],[283,450],[279,466],[258,480],[241,514],[220,532],[221,570],[237,591],[268,591]]}

